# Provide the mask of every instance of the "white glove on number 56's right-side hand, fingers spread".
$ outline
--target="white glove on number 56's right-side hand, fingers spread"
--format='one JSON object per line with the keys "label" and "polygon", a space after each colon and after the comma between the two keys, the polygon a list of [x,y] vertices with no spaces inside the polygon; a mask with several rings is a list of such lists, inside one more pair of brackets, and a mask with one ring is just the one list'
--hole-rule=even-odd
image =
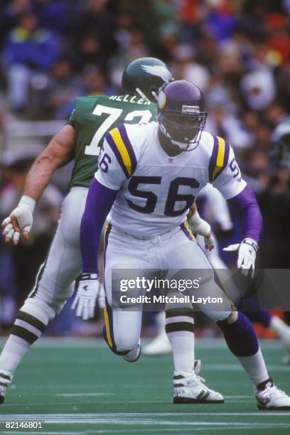
{"label": "white glove on number 56's right-side hand, fingers spread", "polygon": [[242,240],[241,243],[236,243],[235,245],[230,245],[223,248],[223,251],[238,251],[237,257],[237,268],[242,269],[242,274],[247,276],[249,269],[252,267],[252,278],[254,276],[254,262],[256,259],[256,254],[258,250],[257,242],[250,238]]}

